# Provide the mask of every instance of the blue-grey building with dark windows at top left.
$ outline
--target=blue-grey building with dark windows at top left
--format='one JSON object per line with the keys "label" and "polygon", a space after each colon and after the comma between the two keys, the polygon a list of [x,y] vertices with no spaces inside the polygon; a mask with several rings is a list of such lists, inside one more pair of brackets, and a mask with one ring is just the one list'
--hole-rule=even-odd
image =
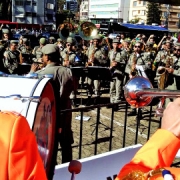
{"label": "blue-grey building with dark windows at top left", "polygon": [[52,25],[56,23],[56,0],[12,1],[12,22]]}

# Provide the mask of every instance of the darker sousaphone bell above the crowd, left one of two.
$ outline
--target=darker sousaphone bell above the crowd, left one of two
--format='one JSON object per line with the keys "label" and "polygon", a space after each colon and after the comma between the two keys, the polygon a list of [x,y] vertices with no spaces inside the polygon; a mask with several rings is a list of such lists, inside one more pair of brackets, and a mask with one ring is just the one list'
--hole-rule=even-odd
{"label": "darker sousaphone bell above the crowd, left one of two", "polygon": [[69,36],[74,37],[75,28],[73,24],[65,22],[59,25],[57,32],[62,40],[66,40]]}

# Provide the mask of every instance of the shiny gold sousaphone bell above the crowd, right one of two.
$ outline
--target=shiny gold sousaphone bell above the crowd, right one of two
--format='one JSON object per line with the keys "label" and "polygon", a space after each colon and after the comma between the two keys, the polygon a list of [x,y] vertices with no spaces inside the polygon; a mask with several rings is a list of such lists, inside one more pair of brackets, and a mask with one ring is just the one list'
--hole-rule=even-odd
{"label": "shiny gold sousaphone bell above the crowd, right one of two", "polygon": [[91,40],[98,34],[96,25],[91,22],[84,22],[79,26],[79,35],[84,40]]}

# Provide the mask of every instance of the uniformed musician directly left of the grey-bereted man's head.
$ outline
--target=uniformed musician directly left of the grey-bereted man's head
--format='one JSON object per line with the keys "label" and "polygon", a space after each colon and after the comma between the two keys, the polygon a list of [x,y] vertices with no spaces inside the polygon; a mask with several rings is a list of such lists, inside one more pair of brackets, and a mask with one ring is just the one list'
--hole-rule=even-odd
{"label": "uniformed musician directly left of the grey-bereted man's head", "polygon": [[33,51],[32,51],[32,54],[34,55],[34,58],[33,58],[33,61],[36,62],[36,61],[42,61],[42,56],[43,56],[43,53],[42,53],[42,48],[46,45],[46,38],[41,38],[39,40],[39,46],[36,46],[34,47]]}

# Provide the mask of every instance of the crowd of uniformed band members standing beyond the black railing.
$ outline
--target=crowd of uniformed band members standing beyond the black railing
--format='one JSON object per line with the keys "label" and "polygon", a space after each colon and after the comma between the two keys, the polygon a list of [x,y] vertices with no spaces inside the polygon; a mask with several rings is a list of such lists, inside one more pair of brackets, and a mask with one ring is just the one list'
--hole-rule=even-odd
{"label": "crowd of uniformed band members standing beyond the black railing", "polygon": [[[18,40],[11,40],[10,29],[3,29],[1,26],[0,32],[0,71],[18,75],[53,74],[59,83],[60,98],[65,102],[61,109],[77,107],[79,83],[87,83],[88,99],[92,96],[98,99],[101,96],[101,79],[94,78],[96,75],[81,77],[77,72],[73,74],[73,67],[94,67],[99,68],[99,71],[104,68],[104,72],[108,71],[111,80],[106,83],[110,87],[110,103],[119,103],[122,100],[123,86],[135,76],[145,76],[153,85],[157,80],[160,89],[180,89],[180,43],[170,34],[163,36],[159,42],[156,42],[155,35],[147,37],[145,34],[137,34],[130,39],[123,33],[117,34],[114,39],[97,34],[88,41],[77,41],[72,36],[66,39],[41,37],[39,46],[32,48],[32,42],[23,35]],[[118,106],[114,107],[114,110],[117,109]],[[138,113],[141,118],[141,110]],[[128,113],[129,116],[136,114],[136,108]],[[68,147],[63,156],[70,157],[63,160],[67,162],[72,159],[71,114],[64,118],[67,123],[60,125],[59,132],[62,135],[62,129],[66,129],[64,133],[69,138],[69,141],[61,141],[64,147]],[[62,136],[60,139],[63,139]]]}

